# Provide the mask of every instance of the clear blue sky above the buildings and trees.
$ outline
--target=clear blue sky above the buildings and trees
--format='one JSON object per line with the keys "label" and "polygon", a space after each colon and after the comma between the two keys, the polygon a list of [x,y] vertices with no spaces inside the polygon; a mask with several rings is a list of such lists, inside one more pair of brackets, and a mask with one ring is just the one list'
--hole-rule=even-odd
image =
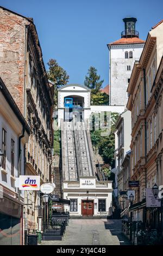
{"label": "clear blue sky above the buildings and trees", "polygon": [[162,0],[0,0],[0,5],[33,17],[46,69],[50,58],[57,59],[69,83],[83,84],[95,66],[103,87],[109,83],[107,44],[121,38],[122,19],[136,17],[136,31],[144,40],[163,19]]}

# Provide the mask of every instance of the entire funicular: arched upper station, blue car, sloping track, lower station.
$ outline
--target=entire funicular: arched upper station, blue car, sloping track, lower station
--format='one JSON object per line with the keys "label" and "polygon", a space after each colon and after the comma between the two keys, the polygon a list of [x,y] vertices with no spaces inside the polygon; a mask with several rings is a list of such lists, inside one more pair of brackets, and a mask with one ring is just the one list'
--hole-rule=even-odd
{"label": "entire funicular: arched upper station, blue car, sloping track, lower station", "polygon": [[108,216],[112,206],[112,181],[96,169],[89,118],[91,113],[114,111],[118,106],[91,106],[90,89],[69,84],[58,90],[58,126],[61,130],[62,197],[72,217]]}

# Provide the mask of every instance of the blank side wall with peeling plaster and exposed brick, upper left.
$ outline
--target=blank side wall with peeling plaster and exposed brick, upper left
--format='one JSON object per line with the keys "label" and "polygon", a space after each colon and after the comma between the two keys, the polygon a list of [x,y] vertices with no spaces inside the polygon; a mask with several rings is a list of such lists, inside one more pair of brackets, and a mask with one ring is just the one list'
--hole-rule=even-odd
{"label": "blank side wall with peeling plaster and exposed brick, upper left", "polygon": [[29,21],[0,8],[0,76],[23,114],[24,47]]}

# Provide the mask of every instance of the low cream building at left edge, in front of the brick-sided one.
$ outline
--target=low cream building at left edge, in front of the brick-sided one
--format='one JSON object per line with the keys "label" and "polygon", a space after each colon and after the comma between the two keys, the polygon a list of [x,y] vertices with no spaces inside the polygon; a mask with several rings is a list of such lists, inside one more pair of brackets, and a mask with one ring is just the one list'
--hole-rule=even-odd
{"label": "low cream building at left edge, in front of the brick-sided one", "polygon": [[24,193],[16,178],[24,175],[30,127],[0,78],[0,245],[22,245]]}

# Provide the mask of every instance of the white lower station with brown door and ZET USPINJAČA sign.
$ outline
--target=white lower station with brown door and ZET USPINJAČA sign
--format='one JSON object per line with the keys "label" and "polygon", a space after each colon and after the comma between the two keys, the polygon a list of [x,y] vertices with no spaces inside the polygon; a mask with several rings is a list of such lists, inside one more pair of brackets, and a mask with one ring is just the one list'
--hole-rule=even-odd
{"label": "white lower station with brown door and ZET USPINJA\u010cA sign", "polygon": [[70,200],[70,216],[110,215],[112,207],[112,182],[95,178],[80,178],[79,181],[64,181],[64,198]]}

